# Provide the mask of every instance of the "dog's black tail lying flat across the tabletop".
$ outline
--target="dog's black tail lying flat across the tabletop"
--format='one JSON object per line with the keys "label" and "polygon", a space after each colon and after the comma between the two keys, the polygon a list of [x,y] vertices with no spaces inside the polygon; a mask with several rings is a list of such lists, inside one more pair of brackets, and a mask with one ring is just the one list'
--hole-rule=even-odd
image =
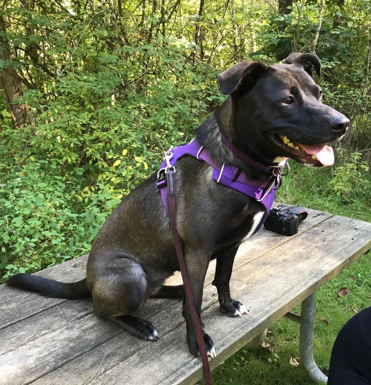
{"label": "dog's black tail lying flat across the tabletop", "polygon": [[77,282],[65,283],[31,274],[17,274],[6,283],[18,289],[36,292],[51,298],[79,299],[90,295],[86,278]]}

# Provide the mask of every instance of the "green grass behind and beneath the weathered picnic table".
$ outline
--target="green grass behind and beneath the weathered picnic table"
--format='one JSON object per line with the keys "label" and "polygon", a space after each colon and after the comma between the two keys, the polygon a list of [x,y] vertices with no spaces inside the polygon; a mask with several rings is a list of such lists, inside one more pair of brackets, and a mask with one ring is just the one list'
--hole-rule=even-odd
{"label": "green grass behind and beneath the weathered picnic table", "polygon": [[[341,179],[331,169],[314,170],[297,164],[292,166],[292,172],[283,181],[277,200],[371,222],[369,173],[358,173],[355,177],[351,172]],[[354,166],[352,163],[348,168],[354,169]],[[349,184],[343,192],[342,184]],[[348,293],[338,297],[343,287],[348,289]],[[370,305],[371,252],[353,262],[317,293],[313,355],[325,373],[340,328],[355,314],[356,309]],[[300,306],[294,311],[300,313]],[[302,366],[298,336],[298,323],[286,318],[278,320],[271,325],[265,339],[273,346],[273,353],[263,347],[253,351],[244,348],[239,350],[213,370],[213,384],[313,385]],[[297,357],[299,366],[290,364],[291,357]]]}

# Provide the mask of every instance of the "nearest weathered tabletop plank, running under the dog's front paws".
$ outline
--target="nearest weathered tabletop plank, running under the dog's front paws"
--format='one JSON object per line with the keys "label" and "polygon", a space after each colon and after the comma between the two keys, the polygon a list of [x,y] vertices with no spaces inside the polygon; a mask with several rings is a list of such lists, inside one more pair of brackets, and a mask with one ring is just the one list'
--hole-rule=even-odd
{"label": "nearest weathered tabletop plank, running under the dog's front paws", "polygon": [[[241,265],[233,272],[231,286],[233,297],[245,302],[250,309],[250,313],[242,318],[231,319],[219,314],[215,306],[215,290],[207,286],[202,319],[205,330],[216,343],[218,355],[211,360],[212,367],[244,346],[370,247],[370,223],[336,216],[312,231],[292,238],[289,244],[282,244]],[[90,384],[197,381],[201,377],[201,363],[187,351],[179,303],[172,306],[178,308],[170,307],[168,317],[160,313],[153,317],[161,336],[158,342],[143,344],[134,341],[137,346],[135,353],[130,347],[129,354],[125,354],[129,344],[123,342],[122,334],[41,377],[36,384],[61,384],[63,381],[82,384],[88,379]]]}

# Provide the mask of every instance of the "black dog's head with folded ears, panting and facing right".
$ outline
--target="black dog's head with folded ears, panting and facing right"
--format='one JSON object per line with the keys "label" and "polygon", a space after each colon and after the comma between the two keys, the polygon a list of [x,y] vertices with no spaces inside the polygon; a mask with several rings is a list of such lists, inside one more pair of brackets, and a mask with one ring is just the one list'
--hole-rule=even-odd
{"label": "black dog's head with folded ears, panting and facing right", "polygon": [[290,157],[316,167],[334,163],[325,142],[341,139],[350,122],[322,103],[313,69],[320,76],[317,56],[292,53],[282,64],[242,61],[219,74],[221,92],[231,95],[231,137],[238,147],[265,161]]}

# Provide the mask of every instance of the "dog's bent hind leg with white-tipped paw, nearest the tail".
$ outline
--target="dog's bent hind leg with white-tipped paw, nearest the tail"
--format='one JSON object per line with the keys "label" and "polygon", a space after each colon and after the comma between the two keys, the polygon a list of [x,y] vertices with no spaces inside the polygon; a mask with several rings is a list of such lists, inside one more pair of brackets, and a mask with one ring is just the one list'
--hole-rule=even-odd
{"label": "dog's bent hind leg with white-tipped paw, nearest the tail", "polygon": [[157,340],[159,337],[153,324],[132,315],[153,291],[148,286],[139,262],[130,258],[106,261],[104,273],[93,280],[93,312],[119,324],[139,339]]}

